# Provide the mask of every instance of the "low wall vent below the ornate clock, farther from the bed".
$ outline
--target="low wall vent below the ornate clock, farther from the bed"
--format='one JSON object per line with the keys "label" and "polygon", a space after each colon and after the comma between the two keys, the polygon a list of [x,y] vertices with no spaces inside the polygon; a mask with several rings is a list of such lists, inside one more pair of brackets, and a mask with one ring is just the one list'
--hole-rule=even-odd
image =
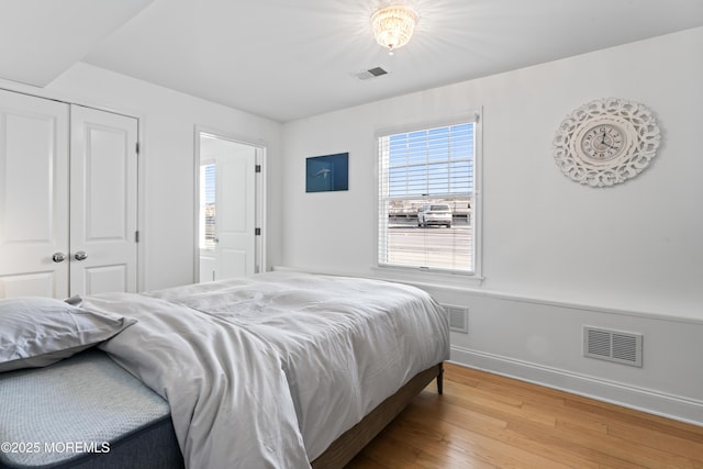
{"label": "low wall vent below the ornate clock, farther from the bed", "polygon": [[641,367],[641,334],[583,327],[583,355]]}

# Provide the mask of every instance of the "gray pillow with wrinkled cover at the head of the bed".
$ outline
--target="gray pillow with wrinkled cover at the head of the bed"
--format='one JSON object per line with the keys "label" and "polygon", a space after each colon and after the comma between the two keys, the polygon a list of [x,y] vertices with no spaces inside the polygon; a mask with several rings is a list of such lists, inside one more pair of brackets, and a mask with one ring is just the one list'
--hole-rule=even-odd
{"label": "gray pillow with wrinkled cover at the head of the bed", "polygon": [[52,298],[0,300],[0,372],[52,365],[135,322]]}

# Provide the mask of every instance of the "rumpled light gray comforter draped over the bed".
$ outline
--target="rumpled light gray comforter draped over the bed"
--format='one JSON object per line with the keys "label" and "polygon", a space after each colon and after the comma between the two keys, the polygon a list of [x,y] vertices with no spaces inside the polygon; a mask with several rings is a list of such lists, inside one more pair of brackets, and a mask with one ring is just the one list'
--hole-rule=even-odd
{"label": "rumpled light gray comforter draped over the bed", "polygon": [[308,468],[449,353],[429,295],[367,279],[268,272],[82,308],[138,320],[102,348],[168,400],[189,468]]}

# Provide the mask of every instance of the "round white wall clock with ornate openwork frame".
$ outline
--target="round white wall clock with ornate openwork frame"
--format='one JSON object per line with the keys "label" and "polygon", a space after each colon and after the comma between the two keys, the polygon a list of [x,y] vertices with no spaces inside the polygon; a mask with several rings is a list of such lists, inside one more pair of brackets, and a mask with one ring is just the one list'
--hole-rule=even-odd
{"label": "round white wall clock with ornate openwork frame", "polygon": [[561,171],[591,187],[625,182],[657,154],[659,126],[645,105],[624,99],[596,99],[568,115],[554,139]]}

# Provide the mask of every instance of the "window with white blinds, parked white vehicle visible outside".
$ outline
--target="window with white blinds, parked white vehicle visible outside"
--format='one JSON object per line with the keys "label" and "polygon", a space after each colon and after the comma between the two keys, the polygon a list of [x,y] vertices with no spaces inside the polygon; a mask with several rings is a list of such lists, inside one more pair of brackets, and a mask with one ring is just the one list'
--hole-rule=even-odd
{"label": "window with white blinds, parked white vehicle visible outside", "polygon": [[476,272],[476,119],[379,136],[379,266]]}

